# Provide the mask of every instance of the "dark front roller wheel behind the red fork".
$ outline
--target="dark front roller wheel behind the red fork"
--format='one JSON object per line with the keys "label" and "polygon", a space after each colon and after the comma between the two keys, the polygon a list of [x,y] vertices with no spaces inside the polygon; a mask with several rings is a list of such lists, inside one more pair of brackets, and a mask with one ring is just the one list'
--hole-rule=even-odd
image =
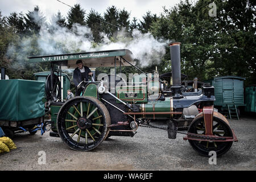
{"label": "dark front roller wheel behind the red fork", "polygon": [[[213,135],[217,137],[232,137],[232,130],[220,118],[213,117]],[[205,134],[204,118],[200,117],[189,126],[188,133]],[[188,140],[193,149],[199,152],[200,155],[209,156],[210,151],[215,151],[217,156],[225,154],[229,151],[233,142],[209,142]]]}

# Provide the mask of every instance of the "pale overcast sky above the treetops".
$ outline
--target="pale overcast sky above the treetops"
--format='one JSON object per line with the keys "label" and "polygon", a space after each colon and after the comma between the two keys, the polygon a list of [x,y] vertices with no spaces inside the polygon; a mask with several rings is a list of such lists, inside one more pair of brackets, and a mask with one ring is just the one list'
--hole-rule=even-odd
{"label": "pale overcast sky above the treetops", "polygon": [[[130,13],[130,19],[136,17],[142,19],[142,16],[147,11],[159,15],[163,12],[163,6],[167,9],[173,7],[180,0],[60,0],[70,6],[80,3],[82,9],[89,13],[90,9],[98,11],[101,15],[104,14],[107,7],[116,6],[118,9],[125,8]],[[8,16],[12,12],[27,13],[28,10],[34,10],[38,5],[47,20],[51,19],[53,14],[59,10],[65,17],[70,9],[67,5],[56,0],[0,0],[0,11],[3,16]]]}

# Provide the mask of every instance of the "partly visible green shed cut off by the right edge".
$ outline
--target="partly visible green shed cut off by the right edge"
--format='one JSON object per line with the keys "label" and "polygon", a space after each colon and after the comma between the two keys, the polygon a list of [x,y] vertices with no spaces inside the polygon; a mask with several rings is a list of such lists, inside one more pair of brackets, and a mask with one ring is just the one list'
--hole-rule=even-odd
{"label": "partly visible green shed cut off by the right edge", "polygon": [[245,111],[256,113],[256,85],[245,87]]}

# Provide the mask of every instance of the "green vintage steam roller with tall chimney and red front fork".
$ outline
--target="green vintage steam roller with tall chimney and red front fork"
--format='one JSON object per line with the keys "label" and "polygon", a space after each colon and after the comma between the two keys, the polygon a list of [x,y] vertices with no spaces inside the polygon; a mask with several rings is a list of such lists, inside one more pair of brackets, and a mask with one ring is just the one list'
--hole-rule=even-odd
{"label": "green vintage steam roller with tall chimney and red front fork", "polygon": [[[124,51],[123,54],[119,51]],[[140,125],[146,125],[149,120],[166,119],[168,138],[175,139],[177,125],[181,121],[191,120],[184,140],[188,140],[194,150],[201,155],[216,151],[217,155],[227,152],[233,141],[237,141],[227,119],[214,111],[213,86],[203,86],[195,92],[184,92],[181,86],[180,43],[170,44],[172,61],[172,84],[167,85],[158,77],[158,73],[142,73],[126,83],[121,76],[116,75],[116,61],[122,65],[133,65],[127,61],[127,49],[108,51],[101,56],[94,56],[102,63],[114,57],[115,73],[106,75],[98,81],[82,81],[78,89],[80,96],[68,101],[50,101],[52,117],[51,136],[59,136],[73,150],[89,151],[96,148],[104,139],[110,136],[130,136]],[[87,53],[90,56],[102,52]],[[67,61],[75,55],[62,55]],[[90,56],[83,56],[84,64]],[[81,56],[80,56],[81,57]],[[101,58],[100,58],[101,57]],[[119,59],[117,59],[119,57]],[[40,57],[30,57],[38,59]],[[41,57],[52,63],[55,59]],[[54,60],[54,61],[53,61]],[[77,59],[68,60],[68,63]],[[135,67],[140,71],[139,68]],[[121,69],[120,69],[121,71]],[[52,76],[53,77],[53,76]],[[114,77],[114,82],[112,80]],[[51,79],[50,79],[51,80]],[[52,78],[53,80],[53,78]],[[51,81],[53,83],[54,81]],[[55,93],[53,84],[51,94]],[[199,113],[199,110],[202,110]]]}

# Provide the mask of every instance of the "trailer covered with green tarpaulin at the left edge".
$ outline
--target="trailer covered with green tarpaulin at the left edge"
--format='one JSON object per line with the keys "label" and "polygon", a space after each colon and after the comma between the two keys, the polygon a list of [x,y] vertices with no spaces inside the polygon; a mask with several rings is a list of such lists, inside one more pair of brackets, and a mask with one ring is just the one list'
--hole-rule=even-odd
{"label": "trailer covered with green tarpaulin at the left edge", "polygon": [[0,80],[0,92],[0,126],[5,134],[35,134],[44,123],[44,82]]}

